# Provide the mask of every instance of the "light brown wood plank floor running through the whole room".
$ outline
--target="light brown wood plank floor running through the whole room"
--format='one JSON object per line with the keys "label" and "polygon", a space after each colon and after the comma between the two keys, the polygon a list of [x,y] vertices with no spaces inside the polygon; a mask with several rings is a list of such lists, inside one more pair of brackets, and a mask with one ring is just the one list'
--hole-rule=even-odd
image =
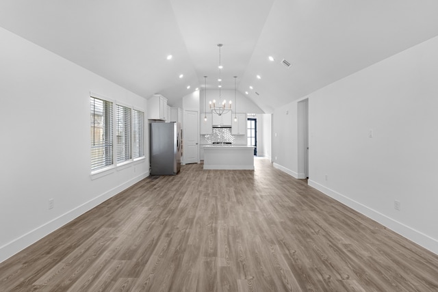
{"label": "light brown wood plank floor running through the whole room", "polygon": [[0,291],[438,291],[438,256],[266,159],[193,164],[1,263]]}

